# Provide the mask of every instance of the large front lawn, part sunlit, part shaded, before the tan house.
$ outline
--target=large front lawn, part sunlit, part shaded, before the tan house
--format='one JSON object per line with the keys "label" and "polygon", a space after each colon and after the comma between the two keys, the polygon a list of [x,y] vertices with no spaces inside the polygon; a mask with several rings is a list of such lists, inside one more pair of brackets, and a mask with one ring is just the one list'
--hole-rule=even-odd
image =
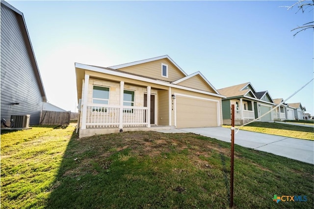
{"label": "large front lawn, part sunlit, part shaded, before the tan house", "polygon": [[[152,131],[78,139],[73,131],[1,135],[1,208],[229,208],[229,143]],[[234,207],[313,208],[313,169],[235,145]],[[274,194],[307,202],[277,204]]]}

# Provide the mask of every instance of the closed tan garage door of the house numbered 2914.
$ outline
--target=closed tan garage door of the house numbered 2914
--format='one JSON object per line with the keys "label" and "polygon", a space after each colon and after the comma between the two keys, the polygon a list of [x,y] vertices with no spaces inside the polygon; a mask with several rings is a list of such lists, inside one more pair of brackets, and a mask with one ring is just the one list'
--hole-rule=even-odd
{"label": "closed tan garage door of the house numbered 2914", "polygon": [[177,128],[217,127],[217,103],[177,96]]}

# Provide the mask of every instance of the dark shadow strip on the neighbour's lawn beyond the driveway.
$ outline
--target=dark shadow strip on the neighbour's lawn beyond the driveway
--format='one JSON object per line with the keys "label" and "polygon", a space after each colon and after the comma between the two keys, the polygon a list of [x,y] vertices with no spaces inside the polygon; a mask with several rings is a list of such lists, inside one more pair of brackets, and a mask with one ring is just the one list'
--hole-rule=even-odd
{"label": "dark shadow strip on the neighbour's lawn beyond the driveway", "polygon": [[268,129],[289,130],[289,131],[302,131],[302,132],[310,132],[310,133],[313,133],[314,131],[312,127],[294,126],[290,124],[281,124],[281,123],[254,122],[246,126],[268,128]]}

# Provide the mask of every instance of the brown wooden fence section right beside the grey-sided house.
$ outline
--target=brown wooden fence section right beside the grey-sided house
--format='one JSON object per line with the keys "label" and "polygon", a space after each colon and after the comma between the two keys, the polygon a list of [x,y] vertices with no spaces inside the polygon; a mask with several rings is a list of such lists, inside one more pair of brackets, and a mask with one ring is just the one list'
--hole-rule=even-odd
{"label": "brown wooden fence section right beside the grey-sided house", "polygon": [[46,111],[41,112],[40,124],[41,125],[69,125],[71,111],[69,112],[56,112]]}

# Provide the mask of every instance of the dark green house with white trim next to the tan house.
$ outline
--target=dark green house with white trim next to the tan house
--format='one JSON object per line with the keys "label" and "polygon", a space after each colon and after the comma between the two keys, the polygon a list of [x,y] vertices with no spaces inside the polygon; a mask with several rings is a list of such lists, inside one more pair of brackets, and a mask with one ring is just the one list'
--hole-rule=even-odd
{"label": "dark green house with white trim next to the tan house", "polygon": [[[243,125],[272,109],[274,101],[267,91],[257,92],[250,82],[218,89],[222,99],[223,124],[231,124],[231,105],[235,104],[235,125]],[[259,121],[272,122],[271,112]]]}

